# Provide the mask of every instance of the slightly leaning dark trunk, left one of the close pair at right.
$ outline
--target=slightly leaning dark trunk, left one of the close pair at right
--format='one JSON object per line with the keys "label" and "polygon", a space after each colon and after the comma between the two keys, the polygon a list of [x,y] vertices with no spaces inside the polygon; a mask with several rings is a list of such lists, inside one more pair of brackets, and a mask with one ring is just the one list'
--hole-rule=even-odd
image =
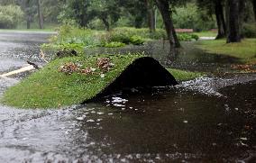
{"label": "slightly leaning dark trunk, left one of the close pair at right", "polygon": [[221,39],[226,36],[226,26],[224,21],[224,7],[222,5],[221,0],[215,1],[215,16],[216,22],[218,26],[218,34],[216,39]]}

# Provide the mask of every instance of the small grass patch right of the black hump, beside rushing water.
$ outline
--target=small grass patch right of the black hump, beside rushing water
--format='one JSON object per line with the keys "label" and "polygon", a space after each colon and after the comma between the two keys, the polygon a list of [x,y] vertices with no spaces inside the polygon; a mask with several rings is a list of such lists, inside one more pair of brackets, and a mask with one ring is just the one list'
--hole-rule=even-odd
{"label": "small grass patch right of the black hump, beside rushing water", "polygon": [[191,80],[197,77],[205,76],[203,73],[200,73],[200,72],[191,72],[191,71],[185,71],[185,70],[180,70],[175,68],[167,68],[167,70],[178,81]]}

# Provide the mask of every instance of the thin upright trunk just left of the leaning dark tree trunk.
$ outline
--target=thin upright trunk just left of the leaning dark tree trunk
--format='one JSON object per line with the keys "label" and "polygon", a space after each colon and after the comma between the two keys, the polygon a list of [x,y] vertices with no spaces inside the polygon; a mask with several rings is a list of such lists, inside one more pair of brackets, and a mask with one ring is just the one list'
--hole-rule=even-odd
{"label": "thin upright trunk just left of the leaning dark tree trunk", "polygon": [[150,32],[156,32],[155,10],[151,0],[145,0],[148,10]]}

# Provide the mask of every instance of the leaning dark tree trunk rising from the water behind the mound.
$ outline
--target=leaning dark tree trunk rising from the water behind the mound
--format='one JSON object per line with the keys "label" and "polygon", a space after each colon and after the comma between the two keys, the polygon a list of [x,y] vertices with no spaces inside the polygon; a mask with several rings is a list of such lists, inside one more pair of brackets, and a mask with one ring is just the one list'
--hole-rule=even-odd
{"label": "leaning dark tree trunk rising from the water behind the mound", "polygon": [[168,40],[170,46],[173,46],[175,48],[180,47],[180,43],[178,41],[177,34],[174,29],[174,25],[172,23],[171,17],[170,17],[170,10],[169,10],[169,1],[168,0],[156,0],[157,6],[160,9],[160,14],[162,16],[165,29],[167,32]]}

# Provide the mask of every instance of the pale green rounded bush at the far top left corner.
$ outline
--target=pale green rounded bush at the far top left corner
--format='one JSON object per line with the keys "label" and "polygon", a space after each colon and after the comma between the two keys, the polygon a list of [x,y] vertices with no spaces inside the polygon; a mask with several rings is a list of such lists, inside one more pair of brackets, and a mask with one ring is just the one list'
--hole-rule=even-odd
{"label": "pale green rounded bush at the far top left corner", "polygon": [[0,28],[15,28],[23,17],[23,11],[18,5],[0,5]]}

